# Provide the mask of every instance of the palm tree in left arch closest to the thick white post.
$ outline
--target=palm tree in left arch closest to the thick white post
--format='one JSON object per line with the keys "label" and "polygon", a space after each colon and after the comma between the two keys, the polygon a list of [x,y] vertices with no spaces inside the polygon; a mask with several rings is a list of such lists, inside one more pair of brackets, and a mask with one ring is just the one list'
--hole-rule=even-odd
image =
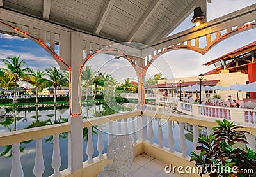
{"label": "palm tree in left arch closest to the thick white post", "polygon": [[60,71],[55,66],[52,66],[45,71],[49,79],[44,81],[44,87],[54,87],[54,104],[56,104],[57,88],[61,88],[61,86],[68,87],[69,81],[66,77],[66,72]]}

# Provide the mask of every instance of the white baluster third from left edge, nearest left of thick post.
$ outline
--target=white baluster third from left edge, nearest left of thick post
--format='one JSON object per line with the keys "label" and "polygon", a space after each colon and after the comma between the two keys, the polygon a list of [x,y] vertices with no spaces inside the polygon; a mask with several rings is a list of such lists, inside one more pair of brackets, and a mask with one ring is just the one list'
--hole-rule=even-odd
{"label": "white baluster third from left edge, nearest left of thick post", "polygon": [[59,135],[53,135],[53,154],[52,154],[52,168],[54,169],[54,174],[52,176],[60,176],[60,166],[61,166],[61,157],[60,157],[60,147],[59,147]]}

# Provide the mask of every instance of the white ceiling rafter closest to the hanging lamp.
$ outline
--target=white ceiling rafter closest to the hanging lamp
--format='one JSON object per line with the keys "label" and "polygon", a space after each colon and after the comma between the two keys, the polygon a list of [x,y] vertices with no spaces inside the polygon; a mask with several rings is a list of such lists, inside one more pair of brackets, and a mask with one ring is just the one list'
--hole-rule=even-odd
{"label": "white ceiling rafter closest to the hanging lamp", "polygon": [[156,40],[162,39],[168,34],[170,34],[181,22],[183,22],[188,15],[190,15],[193,12],[193,9],[195,7],[195,2],[192,1],[181,13],[178,17],[176,17],[173,22],[164,29],[164,31],[157,36]]}

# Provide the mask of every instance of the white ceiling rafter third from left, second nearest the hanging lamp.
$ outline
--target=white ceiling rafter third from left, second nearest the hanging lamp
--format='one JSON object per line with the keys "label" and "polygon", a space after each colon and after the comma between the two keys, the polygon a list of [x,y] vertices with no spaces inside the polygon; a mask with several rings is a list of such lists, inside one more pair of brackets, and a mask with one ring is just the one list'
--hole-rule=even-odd
{"label": "white ceiling rafter third from left, second nearest the hanging lamp", "polygon": [[129,34],[128,38],[125,41],[131,42],[135,38],[138,32],[140,32],[143,25],[147,23],[148,19],[153,15],[154,11],[156,11],[156,9],[162,3],[162,1],[163,0],[155,0],[152,2],[152,4],[150,4],[147,11],[145,11],[145,13],[140,18],[139,22],[133,28],[132,32]]}

